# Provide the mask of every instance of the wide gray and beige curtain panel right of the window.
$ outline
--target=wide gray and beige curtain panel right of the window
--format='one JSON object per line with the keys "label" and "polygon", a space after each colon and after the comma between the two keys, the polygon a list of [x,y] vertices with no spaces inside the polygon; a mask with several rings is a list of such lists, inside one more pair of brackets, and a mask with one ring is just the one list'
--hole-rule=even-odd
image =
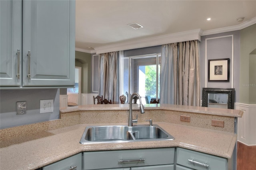
{"label": "wide gray and beige curtain panel right of the window", "polygon": [[200,106],[198,41],[162,45],[160,103]]}

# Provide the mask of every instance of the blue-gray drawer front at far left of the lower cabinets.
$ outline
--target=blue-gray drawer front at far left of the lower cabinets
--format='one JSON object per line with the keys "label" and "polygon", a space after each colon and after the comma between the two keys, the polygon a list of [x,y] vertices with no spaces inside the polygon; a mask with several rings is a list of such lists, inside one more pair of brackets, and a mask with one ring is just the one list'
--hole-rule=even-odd
{"label": "blue-gray drawer front at far left of the lower cabinets", "polygon": [[82,170],[82,153],[70,156],[58,162],[44,166],[43,170],[68,170],[71,168],[71,166],[77,166],[75,170]]}

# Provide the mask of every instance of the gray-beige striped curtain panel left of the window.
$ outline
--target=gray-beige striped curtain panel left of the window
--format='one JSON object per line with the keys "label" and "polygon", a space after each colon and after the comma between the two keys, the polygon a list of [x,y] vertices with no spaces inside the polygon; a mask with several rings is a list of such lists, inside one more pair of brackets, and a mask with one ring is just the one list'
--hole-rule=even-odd
{"label": "gray-beige striped curtain panel left of the window", "polygon": [[119,101],[118,52],[100,54],[99,72],[99,95],[112,102]]}

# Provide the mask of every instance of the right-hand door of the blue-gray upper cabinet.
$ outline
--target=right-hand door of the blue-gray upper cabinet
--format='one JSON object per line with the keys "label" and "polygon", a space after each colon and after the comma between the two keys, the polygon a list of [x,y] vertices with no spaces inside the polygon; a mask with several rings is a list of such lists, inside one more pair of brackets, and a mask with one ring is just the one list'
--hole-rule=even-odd
{"label": "right-hand door of the blue-gray upper cabinet", "polygon": [[23,1],[23,86],[74,86],[74,47],[74,0]]}

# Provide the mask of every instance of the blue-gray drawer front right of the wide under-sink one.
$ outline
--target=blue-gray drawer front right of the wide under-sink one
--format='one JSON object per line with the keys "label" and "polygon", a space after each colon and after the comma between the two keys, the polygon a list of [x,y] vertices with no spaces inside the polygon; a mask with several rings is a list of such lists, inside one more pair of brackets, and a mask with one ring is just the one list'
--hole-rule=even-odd
{"label": "blue-gray drawer front right of the wide under-sink one", "polygon": [[[204,154],[188,149],[177,148],[176,156],[177,164],[196,170],[226,170],[228,167],[226,158]],[[192,161],[194,161],[194,163]],[[203,164],[208,166],[208,168],[206,168],[206,166]]]}

